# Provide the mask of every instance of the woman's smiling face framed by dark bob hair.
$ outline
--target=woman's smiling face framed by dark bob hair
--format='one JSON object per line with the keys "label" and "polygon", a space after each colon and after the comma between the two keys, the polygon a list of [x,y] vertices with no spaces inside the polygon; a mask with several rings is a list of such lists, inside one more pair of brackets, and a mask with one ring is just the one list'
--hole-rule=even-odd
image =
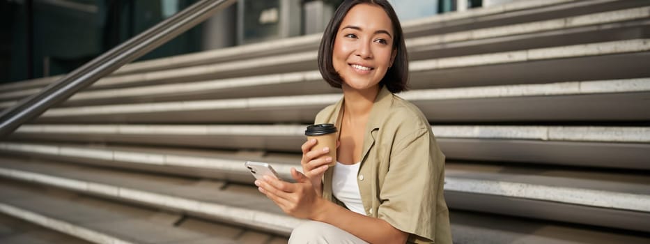
{"label": "woman's smiling face framed by dark bob hair", "polygon": [[332,64],[343,78],[344,89],[378,86],[395,59],[393,36],[392,22],[381,7],[361,3],[348,11],[332,51]]}

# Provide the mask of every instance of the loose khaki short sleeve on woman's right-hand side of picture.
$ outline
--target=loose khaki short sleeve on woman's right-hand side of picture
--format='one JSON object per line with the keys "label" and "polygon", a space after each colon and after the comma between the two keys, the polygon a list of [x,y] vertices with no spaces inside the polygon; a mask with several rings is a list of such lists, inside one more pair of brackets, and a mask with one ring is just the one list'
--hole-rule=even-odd
{"label": "loose khaki short sleeve on woman's right-hand side of picture", "polygon": [[444,155],[430,128],[396,138],[380,191],[378,218],[410,233],[409,242],[433,243]]}

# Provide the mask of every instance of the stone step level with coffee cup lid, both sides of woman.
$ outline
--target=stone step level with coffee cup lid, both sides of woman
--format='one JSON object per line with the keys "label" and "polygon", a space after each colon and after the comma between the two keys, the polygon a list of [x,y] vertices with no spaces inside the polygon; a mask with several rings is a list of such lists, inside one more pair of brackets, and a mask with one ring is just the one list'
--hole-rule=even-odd
{"label": "stone step level with coffee cup lid, both sides of woman", "polygon": [[[435,125],[432,130],[452,160],[649,169],[647,127]],[[48,155],[85,150],[33,144],[54,140],[299,153],[303,133],[304,125],[23,125],[13,138],[32,143],[2,142],[0,149]],[[107,157],[114,159],[112,153]]]}

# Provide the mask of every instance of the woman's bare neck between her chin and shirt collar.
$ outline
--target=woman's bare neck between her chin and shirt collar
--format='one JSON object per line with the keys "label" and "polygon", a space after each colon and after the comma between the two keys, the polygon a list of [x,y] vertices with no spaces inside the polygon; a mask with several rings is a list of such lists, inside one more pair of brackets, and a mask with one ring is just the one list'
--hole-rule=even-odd
{"label": "woman's bare neck between her chin and shirt collar", "polygon": [[350,86],[343,84],[343,103],[344,113],[346,118],[356,120],[365,118],[370,114],[373,108],[373,103],[380,90],[380,86],[372,86],[369,89],[356,90],[351,89]]}

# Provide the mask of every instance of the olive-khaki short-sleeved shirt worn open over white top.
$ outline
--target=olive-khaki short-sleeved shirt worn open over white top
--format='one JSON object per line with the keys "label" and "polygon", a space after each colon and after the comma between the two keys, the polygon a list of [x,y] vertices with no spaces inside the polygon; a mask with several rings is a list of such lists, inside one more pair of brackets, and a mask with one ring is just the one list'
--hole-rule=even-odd
{"label": "olive-khaki short-sleeved shirt worn open over white top", "polygon": [[[343,99],[318,113],[315,123],[336,123]],[[412,103],[382,87],[364,132],[357,174],[366,215],[409,233],[408,243],[451,243],[444,201],[444,155],[431,125]],[[332,170],[323,176],[323,198],[332,196]]]}

